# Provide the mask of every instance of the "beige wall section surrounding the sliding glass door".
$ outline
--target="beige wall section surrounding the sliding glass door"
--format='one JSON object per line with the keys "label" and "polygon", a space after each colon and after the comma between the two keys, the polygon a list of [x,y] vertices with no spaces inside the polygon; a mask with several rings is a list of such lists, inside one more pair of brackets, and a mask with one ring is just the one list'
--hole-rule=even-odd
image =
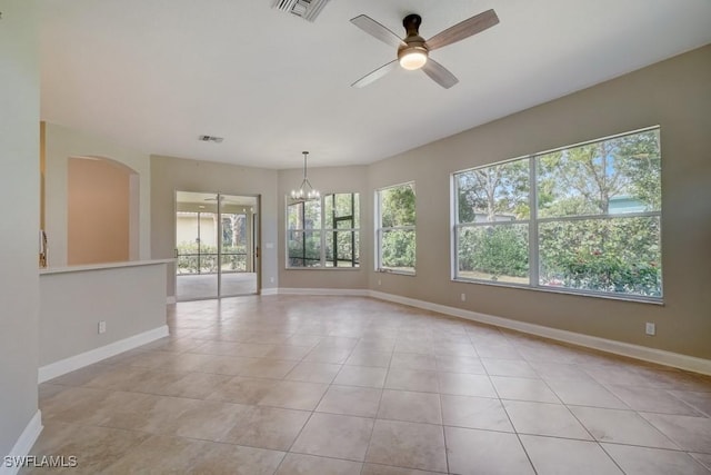
{"label": "beige wall section surrounding the sliding glass door", "polygon": [[[176,191],[261,196],[261,287],[278,286],[277,171],[261,168],[151,156],[151,250],[172,258],[176,247]],[[176,295],[176,268],[168,266],[168,296]]]}

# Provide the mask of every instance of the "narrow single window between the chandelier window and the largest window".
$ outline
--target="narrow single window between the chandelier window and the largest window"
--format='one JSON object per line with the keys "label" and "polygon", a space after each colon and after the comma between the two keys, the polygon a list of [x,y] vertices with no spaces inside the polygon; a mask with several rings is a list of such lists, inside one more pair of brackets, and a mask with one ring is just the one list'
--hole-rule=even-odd
{"label": "narrow single window between the chandelier window and the largest window", "polygon": [[414,184],[375,192],[375,270],[414,274]]}

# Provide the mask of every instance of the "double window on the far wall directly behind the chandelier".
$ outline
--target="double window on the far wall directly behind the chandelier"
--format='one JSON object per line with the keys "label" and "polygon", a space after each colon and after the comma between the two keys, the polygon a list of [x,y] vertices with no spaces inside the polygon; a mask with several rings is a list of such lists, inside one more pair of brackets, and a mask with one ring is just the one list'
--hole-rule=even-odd
{"label": "double window on the far wall directly behind the chandelier", "polygon": [[358,194],[287,198],[287,267],[359,267]]}

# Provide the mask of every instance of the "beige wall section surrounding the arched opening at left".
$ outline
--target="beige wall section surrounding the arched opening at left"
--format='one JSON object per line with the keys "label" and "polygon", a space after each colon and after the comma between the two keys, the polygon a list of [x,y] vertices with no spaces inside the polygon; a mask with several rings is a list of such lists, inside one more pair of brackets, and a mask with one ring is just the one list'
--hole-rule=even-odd
{"label": "beige wall section surrounding the arched opening at left", "polygon": [[46,228],[49,248],[49,267],[62,267],[68,264],[68,168],[71,157],[97,157],[114,160],[136,172],[131,187],[138,188],[138,202],[130,207],[131,227],[138,228],[138,235],[130,244],[131,259],[149,259],[151,205],[150,205],[150,157],[137,150],[118,146],[110,140],[74,130],[56,123],[46,123],[44,147],[46,171]]}

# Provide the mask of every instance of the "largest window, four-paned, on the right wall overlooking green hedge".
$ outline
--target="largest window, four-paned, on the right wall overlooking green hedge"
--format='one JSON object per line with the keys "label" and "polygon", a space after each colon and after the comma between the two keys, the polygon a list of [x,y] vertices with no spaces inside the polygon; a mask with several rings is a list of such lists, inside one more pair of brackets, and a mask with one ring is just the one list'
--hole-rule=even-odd
{"label": "largest window, four-paned, on the right wall overlooking green hedge", "polygon": [[659,300],[659,128],[453,176],[454,278]]}

